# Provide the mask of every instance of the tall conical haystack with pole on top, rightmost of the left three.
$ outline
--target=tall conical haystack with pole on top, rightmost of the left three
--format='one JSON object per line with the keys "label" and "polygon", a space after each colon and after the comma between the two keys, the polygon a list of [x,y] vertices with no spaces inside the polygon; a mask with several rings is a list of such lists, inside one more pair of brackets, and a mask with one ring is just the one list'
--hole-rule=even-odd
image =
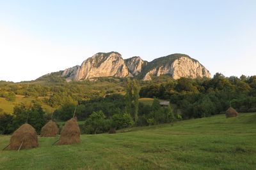
{"label": "tall conical haystack with pole on top, rightmost of the left three", "polygon": [[66,122],[60,133],[58,145],[68,145],[80,142],[80,129],[76,118],[71,118]]}

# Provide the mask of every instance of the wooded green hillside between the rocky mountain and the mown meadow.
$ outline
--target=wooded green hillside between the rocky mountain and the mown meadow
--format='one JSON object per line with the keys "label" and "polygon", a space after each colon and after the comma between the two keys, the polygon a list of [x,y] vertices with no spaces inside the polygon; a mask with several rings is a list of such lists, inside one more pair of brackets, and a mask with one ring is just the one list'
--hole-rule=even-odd
{"label": "wooded green hillside between the rocky mountain and the mown meadow", "polygon": [[[67,83],[58,74],[49,74],[35,81],[1,81],[0,96],[3,134],[12,133],[26,121],[39,131],[51,117],[58,122],[68,120],[75,109],[76,117],[83,121],[82,132],[95,134],[210,117],[230,106],[239,112],[255,112],[256,76],[217,73],[213,78],[173,80],[163,75],[148,82],[109,77]],[[145,97],[152,102],[138,100]],[[159,100],[170,101],[170,106],[161,106]]]}

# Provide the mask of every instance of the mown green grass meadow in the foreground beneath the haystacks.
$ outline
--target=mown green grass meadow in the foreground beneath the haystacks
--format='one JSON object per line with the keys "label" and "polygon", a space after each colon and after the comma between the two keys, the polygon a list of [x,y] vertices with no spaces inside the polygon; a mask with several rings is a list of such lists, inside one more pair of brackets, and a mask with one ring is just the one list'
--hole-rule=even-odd
{"label": "mown green grass meadow in the foreground beneath the haystacks", "polygon": [[[38,138],[38,148],[0,151],[0,169],[256,169],[256,113],[125,131],[62,146]],[[0,136],[0,148],[9,140]]]}

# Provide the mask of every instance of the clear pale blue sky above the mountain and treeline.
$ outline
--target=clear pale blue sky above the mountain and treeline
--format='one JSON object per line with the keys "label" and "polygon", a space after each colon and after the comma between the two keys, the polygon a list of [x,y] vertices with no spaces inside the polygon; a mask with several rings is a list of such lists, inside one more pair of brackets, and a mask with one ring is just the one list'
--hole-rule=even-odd
{"label": "clear pale blue sky above the mountain and treeline", "polygon": [[35,80],[97,52],[186,53],[212,75],[256,74],[256,1],[0,0],[0,80]]}

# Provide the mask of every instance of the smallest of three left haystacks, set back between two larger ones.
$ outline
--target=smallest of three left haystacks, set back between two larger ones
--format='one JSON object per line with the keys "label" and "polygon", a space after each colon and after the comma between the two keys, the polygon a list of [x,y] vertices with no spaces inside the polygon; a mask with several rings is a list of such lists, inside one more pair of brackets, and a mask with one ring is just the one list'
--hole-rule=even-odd
{"label": "smallest of three left haystacks, set back between two larger ones", "polygon": [[59,129],[56,122],[50,120],[47,124],[44,125],[41,129],[41,136],[42,137],[54,137],[58,134]]}

